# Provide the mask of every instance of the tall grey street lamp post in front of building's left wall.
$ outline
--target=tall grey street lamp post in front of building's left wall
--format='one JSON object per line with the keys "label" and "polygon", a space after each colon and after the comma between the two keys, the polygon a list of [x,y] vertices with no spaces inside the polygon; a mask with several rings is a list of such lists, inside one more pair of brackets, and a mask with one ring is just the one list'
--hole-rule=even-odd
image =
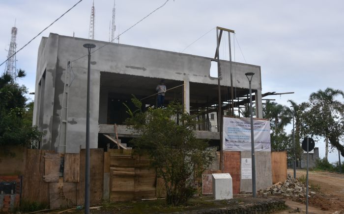
{"label": "tall grey street lamp post in front of building's left wall", "polygon": [[85,164],[85,214],[89,214],[89,88],[90,88],[90,67],[91,67],[91,48],[94,44],[85,44],[88,50],[87,65],[87,104],[86,104],[86,164]]}

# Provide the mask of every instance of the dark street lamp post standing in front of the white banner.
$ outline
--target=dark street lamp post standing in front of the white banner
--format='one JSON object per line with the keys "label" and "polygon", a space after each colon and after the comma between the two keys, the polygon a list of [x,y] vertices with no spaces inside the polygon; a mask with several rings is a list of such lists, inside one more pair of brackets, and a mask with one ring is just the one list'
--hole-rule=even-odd
{"label": "dark street lamp post standing in front of the white banner", "polygon": [[[256,159],[255,159],[255,136],[253,133],[253,109],[252,109],[252,88],[251,80],[255,73],[247,72],[245,73],[250,84],[250,119],[251,119],[251,157],[252,157],[252,197],[256,197]],[[250,78],[251,77],[251,78]]]}

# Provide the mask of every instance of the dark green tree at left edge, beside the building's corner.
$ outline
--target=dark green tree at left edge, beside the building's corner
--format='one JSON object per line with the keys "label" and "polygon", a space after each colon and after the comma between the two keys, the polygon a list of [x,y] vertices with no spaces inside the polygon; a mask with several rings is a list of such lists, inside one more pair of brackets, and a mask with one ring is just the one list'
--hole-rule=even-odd
{"label": "dark green tree at left edge, beside the building's corner", "polygon": [[27,93],[25,86],[14,82],[24,77],[25,71],[19,70],[14,78],[7,73],[0,77],[0,146],[28,146],[40,140],[42,133],[28,121]]}

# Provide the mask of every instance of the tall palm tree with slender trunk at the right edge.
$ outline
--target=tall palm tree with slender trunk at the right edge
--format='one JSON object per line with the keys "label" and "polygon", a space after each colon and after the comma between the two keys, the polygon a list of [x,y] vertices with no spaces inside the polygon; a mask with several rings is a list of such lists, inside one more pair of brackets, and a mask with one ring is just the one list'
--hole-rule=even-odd
{"label": "tall palm tree with slender trunk at the right edge", "polygon": [[[312,93],[309,97],[311,104],[313,105],[311,111],[317,111],[321,114],[321,117],[315,121],[313,128],[315,133],[319,136],[325,137],[325,159],[328,157],[328,141],[331,136],[331,131],[329,129],[329,122],[333,121],[333,112],[343,113],[344,104],[336,100],[336,96],[342,95],[344,98],[344,93],[342,90],[326,88],[324,91],[318,90]],[[316,120],[316,119],[315,119]]]}

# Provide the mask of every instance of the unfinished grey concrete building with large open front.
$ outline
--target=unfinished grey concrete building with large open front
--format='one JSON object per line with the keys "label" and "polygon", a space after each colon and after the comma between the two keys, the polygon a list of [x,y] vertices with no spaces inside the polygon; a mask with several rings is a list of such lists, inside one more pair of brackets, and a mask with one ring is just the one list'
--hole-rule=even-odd
{"label": "unfinished grey concrete building with large open front", "polygon": [[[123,142],[135,137],[125,126],[128,117],[123,103],[130,106],[132,95],[142,99],[153,95],[161,79],[168,89],[165,105],[175,100],[185,111],[207,115],[217,111],[218,80],[210,76],[213,58],[165,50],[142,48],[61,36],[51,33],[43,37],[38,50],[33,125],[44,132],[39,148],[57,152],[78,153],[86,141],[86,43],[96,45],[91,55],[90,147],[103,147],[103,134],[118,136]],[[100,49],[98,49],[100,48]],[[98,49],[98,50],[97,50]],[[215,49],[214,49],[215,50]],[[262,118],[260,67],[232,62],[233,106],[235,111],[246,108],[249,82],[246,72],[254,72],[252,89],[257,117]],[[222,110],[229,109],[229,61],[221,60]],[[153,106],[156,96],[142,100]],[[215,116],[215,120],[216,120]],[[196,128],[198,138],[219,144],[219,133],[209,123]]]}

